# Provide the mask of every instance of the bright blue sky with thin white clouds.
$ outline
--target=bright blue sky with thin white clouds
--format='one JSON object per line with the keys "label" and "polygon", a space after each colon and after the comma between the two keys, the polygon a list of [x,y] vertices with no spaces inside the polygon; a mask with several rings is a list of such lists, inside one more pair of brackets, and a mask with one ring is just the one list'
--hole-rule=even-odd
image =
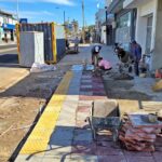
{"label": "bright blue sky with thin white clouds", "polygon": [[[65,11],[66,21],[76,19],[82,26],[82,0],[0,0],[0,10],[16,14],[17,1],[19,18],[28,18],[29,23],[62,24]],[[103,3],[104,0],[84,0],[86,26],[95,24],[95,13]]]}

